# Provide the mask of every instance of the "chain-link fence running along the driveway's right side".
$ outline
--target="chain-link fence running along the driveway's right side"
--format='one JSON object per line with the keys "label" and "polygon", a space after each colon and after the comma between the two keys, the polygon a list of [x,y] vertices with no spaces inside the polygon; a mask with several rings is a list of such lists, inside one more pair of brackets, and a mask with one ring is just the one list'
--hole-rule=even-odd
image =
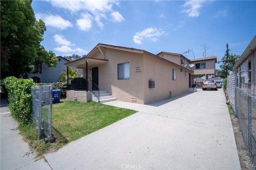
{"label": "chain-link fence running along the driveway's right side", "polygon": [[256,169],[256,98],[236,87],[236,74],[230,72],[227,78],[227,100],[238,118],[244,145]]}

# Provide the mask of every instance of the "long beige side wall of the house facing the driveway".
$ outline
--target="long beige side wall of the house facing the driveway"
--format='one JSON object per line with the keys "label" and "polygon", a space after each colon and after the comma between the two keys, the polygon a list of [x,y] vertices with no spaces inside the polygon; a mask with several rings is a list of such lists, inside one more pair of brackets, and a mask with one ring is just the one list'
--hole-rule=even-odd
{"label": "long beige side wall of the house facing the driveway", "polygon": [[[172,69],[176,69],[176,81],[172,80]],[[185,78],[185,71],[187,78]],[[144,103],[152,103],[171,96],[188,92],[189,72],[174,64],[170,64],[154,57],[144,56]],[[148,87],[148,81],[155,81],[155,88]],[[169,96],[171,92],[171,96]]]}

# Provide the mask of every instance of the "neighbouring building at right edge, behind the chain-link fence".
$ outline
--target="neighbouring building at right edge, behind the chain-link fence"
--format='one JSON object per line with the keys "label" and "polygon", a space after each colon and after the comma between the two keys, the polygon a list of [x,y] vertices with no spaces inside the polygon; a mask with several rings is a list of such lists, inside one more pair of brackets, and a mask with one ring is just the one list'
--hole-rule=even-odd
{"label": "neighbouring building at right edge, behind the chain-link fence", "polygon": [[239,57],[233,69],[238,70],[238,87],[256,95],[256,35]]}

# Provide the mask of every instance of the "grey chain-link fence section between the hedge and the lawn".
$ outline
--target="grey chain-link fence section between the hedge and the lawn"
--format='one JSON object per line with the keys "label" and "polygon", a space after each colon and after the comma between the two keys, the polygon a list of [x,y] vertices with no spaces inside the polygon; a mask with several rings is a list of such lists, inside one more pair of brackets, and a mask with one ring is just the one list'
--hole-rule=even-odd
{"label": "grey chain-link fence section between the hedge and the lawn", "polygon": [[38,140],[42,135],[44,141],[55,141],[52,136],[52,84],[31,88],[32,123],[38,129]]}

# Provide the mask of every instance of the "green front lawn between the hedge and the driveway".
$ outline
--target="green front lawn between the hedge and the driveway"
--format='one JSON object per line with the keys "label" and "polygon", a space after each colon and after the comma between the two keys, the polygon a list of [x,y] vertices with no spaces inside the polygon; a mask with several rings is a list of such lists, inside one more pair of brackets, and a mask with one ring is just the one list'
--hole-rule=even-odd
{"label": "green front lawn between the hedge and the driveway", "polygon": [[49,150],[56,151],[71,141],[111,125],[136,112],[92,101],[81,103],[61,100],[60,103],[52,105],[52,134],[56,137],[56,143],[45,144],[43,139],[36,140],[37,132],[32,128],[32,125],[25,125],[19,127],[19,129],[30,147],[40,156]]}

